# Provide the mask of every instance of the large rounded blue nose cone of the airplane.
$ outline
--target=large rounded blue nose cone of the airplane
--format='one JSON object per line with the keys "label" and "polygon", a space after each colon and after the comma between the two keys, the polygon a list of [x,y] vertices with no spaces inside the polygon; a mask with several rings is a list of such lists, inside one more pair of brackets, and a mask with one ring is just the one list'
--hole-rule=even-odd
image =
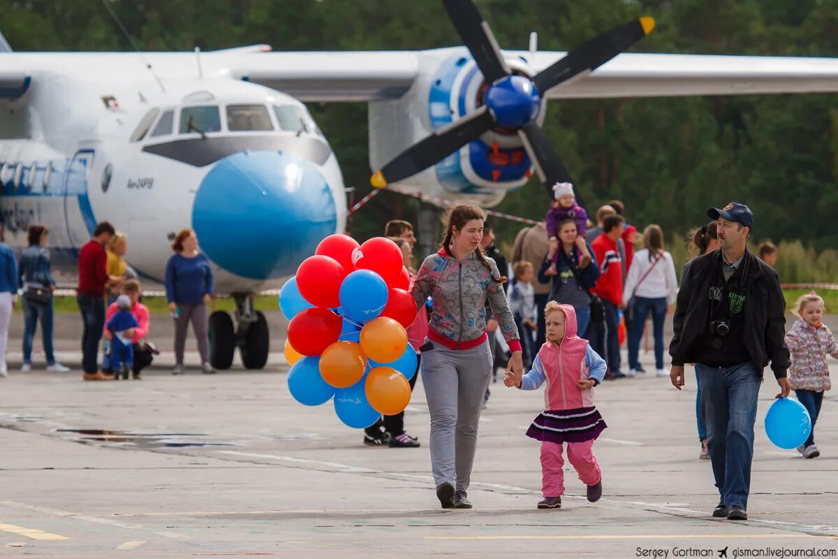
{"label": "large rounded blue nose cone of the airplane", "polygon": [[332,192],[313,163],[278,152],[221,159],[201,182],[192,210],[201,250],[252,279],[293,274],[337,225]]}

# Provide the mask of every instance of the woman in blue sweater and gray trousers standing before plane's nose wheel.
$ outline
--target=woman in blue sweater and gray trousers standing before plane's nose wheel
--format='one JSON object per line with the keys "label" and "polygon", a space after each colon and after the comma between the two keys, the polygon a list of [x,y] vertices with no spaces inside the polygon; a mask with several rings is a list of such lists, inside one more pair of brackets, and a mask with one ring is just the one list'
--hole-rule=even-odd
{"label": "woman in blue sweater and gray trousers standing before plane's nose wheel", "polygon": [[214,292],[209,259],[198,250],[198,237],[191,229],[178,233],[172,243],[172,250],[175,253],[166,264],[166,298],[174,318],[175,365],[172,374],[181,375],[184,372],[186,329],[190,320],[195,338],[198,339],[201,369],[207,374],[215,373],[209,365],[206,303],[209,303]]}

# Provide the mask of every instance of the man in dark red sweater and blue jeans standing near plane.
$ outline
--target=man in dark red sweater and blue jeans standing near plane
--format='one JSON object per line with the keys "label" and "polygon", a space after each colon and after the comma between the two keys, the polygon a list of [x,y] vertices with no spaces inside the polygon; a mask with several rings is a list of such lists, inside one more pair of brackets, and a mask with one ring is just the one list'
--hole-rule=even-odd
{"label": "man in dark red sweater and blue jeans standing near plane", "polygon": [[81,334],[81,367],[84,380],[113,380],[99,370],[96,357],[102,329],[105,328],[105,288],[111,283],[107,275],[105,246],[116,231],[113,225],[102,221],[96,225],[93,238],[79,251],[79,287],[76,300],[84,323]]}

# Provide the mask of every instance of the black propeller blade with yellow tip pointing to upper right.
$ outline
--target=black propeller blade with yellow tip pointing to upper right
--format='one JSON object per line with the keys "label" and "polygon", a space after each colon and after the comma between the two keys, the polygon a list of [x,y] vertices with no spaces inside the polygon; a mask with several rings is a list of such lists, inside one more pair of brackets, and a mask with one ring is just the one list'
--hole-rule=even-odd
{"label": "black propeller blade with yellow tip pointing to upper right", "polygon": [[629,49],[654,29],[653,18],[639,18],[615,27],[572,49],[561,60],[541,70],[533,83],[543,96],[547,90],[582,72],[596,70],[599,66]]}

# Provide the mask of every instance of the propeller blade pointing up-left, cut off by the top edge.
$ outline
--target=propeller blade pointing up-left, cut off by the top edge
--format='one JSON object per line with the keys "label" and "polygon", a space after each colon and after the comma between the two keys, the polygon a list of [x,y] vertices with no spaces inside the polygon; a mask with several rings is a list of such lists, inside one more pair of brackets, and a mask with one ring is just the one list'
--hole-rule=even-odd
{"label": "propeller blade pointing up-left, cut off by the top edge", "polygon": [[491,84],[510,75],[510,68],[500,55],[498,40],[472,0],[443,0],[442,3],[486,81]]}

